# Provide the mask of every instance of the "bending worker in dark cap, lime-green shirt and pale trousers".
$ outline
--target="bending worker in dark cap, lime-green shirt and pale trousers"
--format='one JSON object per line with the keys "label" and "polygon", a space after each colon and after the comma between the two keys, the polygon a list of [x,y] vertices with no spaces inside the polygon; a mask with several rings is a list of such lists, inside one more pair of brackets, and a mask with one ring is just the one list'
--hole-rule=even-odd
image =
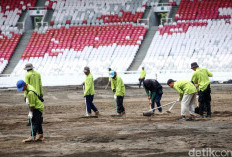
{"label": "bending worker in dark cap, lime-green shirt and pale trousers", "polygon": [[167,85],[174,88],[179,93],[177,101],[181,101],[181,118],[179,120],[186,120],[186,112],[189,108],[189,120],[195,120],[195,102],[197,89],[190,81],[174,81],[169,79]]}

